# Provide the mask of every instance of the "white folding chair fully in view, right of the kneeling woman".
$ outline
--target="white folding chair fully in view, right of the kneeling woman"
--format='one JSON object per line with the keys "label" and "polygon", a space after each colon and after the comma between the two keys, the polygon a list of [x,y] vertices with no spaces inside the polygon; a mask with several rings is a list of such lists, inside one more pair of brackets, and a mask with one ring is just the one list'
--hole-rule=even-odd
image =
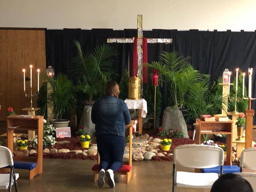
{"label": "white folding chair fully in view, right of the kneeling woman", "polygon": [[220,165],[223,174],[224,151],[215,146],[180,145],[173,151],[172,192],[177,187],[211,188],[218,173],[176,172],[176,164],[184,167],[200,169],[212,168]]}

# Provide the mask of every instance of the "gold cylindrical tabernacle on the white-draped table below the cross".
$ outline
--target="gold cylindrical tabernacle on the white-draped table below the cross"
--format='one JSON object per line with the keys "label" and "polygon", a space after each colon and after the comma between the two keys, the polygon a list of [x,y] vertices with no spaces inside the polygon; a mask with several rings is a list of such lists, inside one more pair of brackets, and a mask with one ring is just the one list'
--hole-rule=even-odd
{"label": "gold cylindrical tabernacle on the white-draped table below the cross", "polygon": [[139,77],[129,77],[129,99],[140,99]]}

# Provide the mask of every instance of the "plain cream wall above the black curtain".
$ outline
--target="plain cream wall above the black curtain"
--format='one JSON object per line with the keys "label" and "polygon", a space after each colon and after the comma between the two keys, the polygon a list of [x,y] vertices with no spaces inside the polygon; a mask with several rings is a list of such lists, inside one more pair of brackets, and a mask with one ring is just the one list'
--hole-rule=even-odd
{"label": "plain cream wall above the black curtain", "polygon": [[255,0],[1,0],[0,27],[256,29]]}

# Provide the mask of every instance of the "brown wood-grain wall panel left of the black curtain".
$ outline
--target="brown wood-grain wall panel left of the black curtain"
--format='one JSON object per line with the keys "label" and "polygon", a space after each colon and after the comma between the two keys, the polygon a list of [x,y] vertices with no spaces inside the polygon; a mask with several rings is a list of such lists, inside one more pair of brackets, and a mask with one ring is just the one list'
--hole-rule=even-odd
{"label": "brown wood-grain wall panel left of the black curtain", "polygon": [[[37,91],[36,69],[45,70],[44,30],[0,30],[0,121],[5,121],[7,108],[17,114],[26,114],[22,108],[30,106],[30,99],[23,94],[23,73],[29,76],[29,64],[33,64],[33,92]],[[29,82],[26,89],[29,92]],[[42,84],[42,82],[41,82]],[[33,100],[36,107],[36,99]]]}

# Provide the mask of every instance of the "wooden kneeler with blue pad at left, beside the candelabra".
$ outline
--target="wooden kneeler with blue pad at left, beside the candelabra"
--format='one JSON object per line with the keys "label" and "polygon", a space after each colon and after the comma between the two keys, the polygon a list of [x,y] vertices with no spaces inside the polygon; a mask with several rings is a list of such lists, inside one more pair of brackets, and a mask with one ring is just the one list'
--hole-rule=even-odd
{"label": "wooden kneeler with blue pad at left, beside the candelabra", "polygon": [[[7,147],[13,153],[13,132],[14,130],[37,131],[37,157],[14,156],[15,161],[36,162],[36,167],[29,171],[29,180],[43,172],[43,129],[44,116],[19,117],[20,115],[10,115],[7,119]],[[10,126],[19,126],[15,129]]]}

